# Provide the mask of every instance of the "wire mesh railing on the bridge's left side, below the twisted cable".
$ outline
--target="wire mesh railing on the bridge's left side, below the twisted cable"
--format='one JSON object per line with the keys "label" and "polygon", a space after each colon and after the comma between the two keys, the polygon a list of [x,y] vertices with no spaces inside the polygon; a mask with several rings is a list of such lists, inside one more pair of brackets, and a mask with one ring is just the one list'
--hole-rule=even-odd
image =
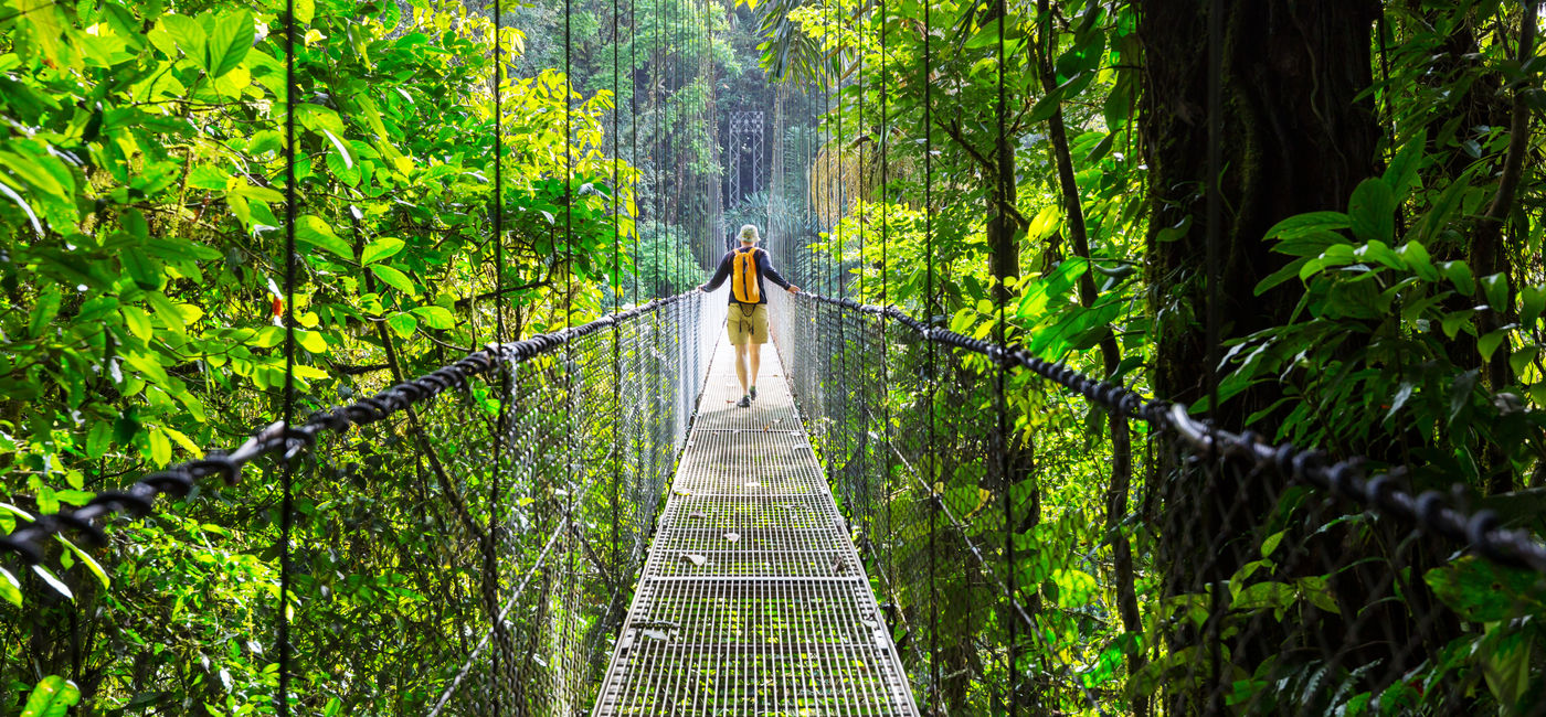
{"label": "wire mesh railing on the bridge's left side, below the twisted cable", "polygon": [[[53,533],[100,538],[124,511],[186,530],[212,595],[144,620],[223,615],[221,634],[189,634],[223,660],[269,660],[280,606],[266,556],[227,550],[278,521],[272,502],[244,519],[201,525],[153,515],[158,491],[210,490],[199,479],[272,485],[295,460],[291,545],[292,706],[305,714],[578,714],[589,708],[643,562],[656,510],[708,371],[724,298],[697,292],[651,301],[529,340],[492,345],[455,366],[291,431],[271,426],[243,450],[212,453],[102,493],[79,510],[40,516],[0,547],[32,561]],[[309,451],[305,448],[311,447]],[[243,471],[244,464],[257,471]],[[271,494],[272,498],[272,494]],[[405,525],[416,530],[404,530]],[[133,609],[172,566],[121,575],[113,607]],[[209,618],[209,615],[204,615]],[[32,641],[80,644],[80,621],[32,626]],[[91,627],[88,623],[87,629]],[[82,695],[135,694],[153,706],[179,692],[187,714],[249,700],[272,705],[274,683],[232,694],[223,668],[145,644],[93,661]],[[77,660],[83,655],[77,655]],[[203,664],[209,664],[207,661]],[[206,668],[207,669],[207,668]],[[272,677],[272,671],[269,671]],[[192,686],[189,685],[192,680]],[[264,689],[267,688],[267,689]],[[90,702],[88,702],[90,705]],[[207,705],[207,706],[206,706]],[[203,708],[203,711],[199,709]]]}

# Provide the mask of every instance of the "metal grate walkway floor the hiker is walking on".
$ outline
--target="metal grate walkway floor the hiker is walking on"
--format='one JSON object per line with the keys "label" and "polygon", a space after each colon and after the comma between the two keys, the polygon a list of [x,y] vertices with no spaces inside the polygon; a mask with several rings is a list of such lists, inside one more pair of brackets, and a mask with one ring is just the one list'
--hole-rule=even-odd
{"label": "metal grate walkway floor the hiker is walking on", "polygon": [[782,374],[720,342],[597,717],[918,714]]}

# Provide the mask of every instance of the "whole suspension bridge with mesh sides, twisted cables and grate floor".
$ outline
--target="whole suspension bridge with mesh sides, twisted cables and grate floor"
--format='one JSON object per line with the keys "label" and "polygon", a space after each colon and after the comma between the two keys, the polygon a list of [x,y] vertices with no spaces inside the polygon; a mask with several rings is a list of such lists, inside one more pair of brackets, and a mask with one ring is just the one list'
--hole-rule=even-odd
{"label": "whole suspension bridge with mesh sides, twisted cables and grate floor", "polygon": [[[371,484],[373,471],[407,470],[421,476],[419,488],[380,498],[404,501],[436,539],[405,541],[397,559],[360,559],[352,575],[340,572],[349,559],[329,561],[343,579],[300,570],[308,579],[297,583],[291,610],[261,617],[272,624],[292,615],[303,691],[317,695],[300,705],[320,708],[328,694],[340,705],[373,705],[385,692],[399,705],[394,714],[909,715],[945,711],[959,689],[957,709],[1101,714],[1110,695],[1084,678],[1099,661],[1071,654],[1056,634],[1079,603],[1056,592],[1037,598],[1047,581],[1081,586],[1059,579],[1070,569],[1028,570],[1079,564],[1076,553],[1087,549],[1070,544],[1057,559],[976,542],[994,535],[985,525],[1002,525],[983,522],[1000,504],[1000,519],[1014,518],[1005,498],[1014,474],[1002,471],[1008,448],[993,396],[996,375],[1023,371],[1062,400],[1150,423],[1156,451],[1313,485],[1487,559],[1546,569],[1538,542],[1487,513],[1464,515],[1435,493],[1413,496],[1388,474],[1365,477],[1356,460],[1197,422],[895,308],[781,297],[778,352],[765,354],[759,399],[737,408],[733,354],[719,338],[724,304],[722,295],[686,294],[489,346],[294,428],[269,426],[233,451],[37,516],[3,545],[42,561],[49,535],[100,539],[105,518],[153,515],[158,494],[186,496],[249,462],[354,485]],[[898,402],[897,392],[912,399]],[[489,453],[467,454],[467,445]],[[960,471],[977,473],[986,488],[942,493],[940,479]],[[473,485],[492,493],[465,493]],[[308,515],[339,518],[318,510]],[[1232,550],[1212,536],[1190,538]],[[340,535],[331,545],[289,549],[312,566],[318,550],[359,545]],[[445,579],[458,567],[481,578]],[[359,589],[382,572],[390,579],[377,589],[405,600],[351,623],[383,630],[380,654],[328,654],[325,634],[342,618],[328,610],[328,586]],[[1218,600],[1206,586],[1200,595]],[[1231,606],[1240,607],[1198,609],[1220,617]],[[1433,621],[1433,610],[1399,618]],[[320,632],[303,630],[308,623]],[[436,624],[451,629],[419,629]],[[1017,638],[997,649],[948,644],[994,624]],[[1243,629],[1271,624],[1257,615]],[[1374,627],[1402,632],[1394,623]],[[986,660],[974,664],[974,652]],[[1203,686],[1206,702],[1228,688],[1220,666],[1167,671]]]}

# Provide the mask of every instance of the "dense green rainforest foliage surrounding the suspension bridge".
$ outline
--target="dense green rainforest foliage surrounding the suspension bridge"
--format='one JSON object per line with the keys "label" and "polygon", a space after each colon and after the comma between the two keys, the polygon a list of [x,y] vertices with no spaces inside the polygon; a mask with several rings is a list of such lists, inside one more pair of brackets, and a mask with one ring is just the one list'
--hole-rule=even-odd
{"label": "dense green rainforest foliage surrounding the suspension bridge", "polygon": [[[764,226],[815,292],[1022,345],[1546,528],[1538,3],[507,5],[495,37],[484,0],[295,0],[294,57],[283,0],[0,6],[0,535],[275,422],[291,312],[305,414],[489,342],[690,291],[742,223]],[[727,179],[727,153],[742,151],[733,111],[765,113],[745,150],[765,176],[750,187]],[[991,385],[986,362],[957,368]],[[903,617],[965,610],[918,657],[952,675],[915,683],[928,703],[994,714],[1023,692],[1071,712],[1071,694],[1093,692],[1122,712],[1190,714],[1200,703],[1164,686],[1201,626],[1172,618],[1220,584],[1238,606],[1218,640],[1240,712],[1523,714],[1546,698],[1538,579],[1373,513],[1325,513],[1302,487],[1167,462],[1116,413],[1070,409],[1028,374],[1005,382],[1013,481],[962,467],[931,490],[972,518],[974,544],[1020,556],[1011,600],[1045,607],[1076,669],[1016,661],[1045,646],[963,607],[1003,600],[963,569],[945,584],[966,600],[886,598]],[[482,391],[472,400],[498,413]],[[943,425],[993,400],[957,399],[886,402]],[[830,428],[843,430],[863,433]],[[468,436],[433,440],[456,454],[476,448]],[[340,624],[380,604],[428,609],[402,556],[444,555],[442,536],[385,498],[422,474],[337,464],[298,488],[312,516],[298,541],[315,549],[308,579],[349,579],[305,589],[326,592],[317,604]],[[254,473],[116,521],[107,545],[60,538],[43,564],[0,562],[0,714],[54,694],[94,705],[85,714],[269,714],[274,655],[255,626],[278,590],[277,468]],[[345,481],[360,490],[342,501]],[[982,510],[1000,499],[1022,518]],[[340,532],[354,552],[322,549]],[[1229,545],[1204,555],[1195,535]],[[600,562],[632,575],[611,539]],[[400,552],[369,549],[382,544]],[[1354,564],[1274,562],[1280,544]],[[439,579],[472,595],[479,569]],[[1353,657],[1317,643],[1360,615],[1405,626],[1427,606],[1442,617],[1405,643]],[[575,620],[587,635],[609,624]],[[1272,627],[1241,627],[1260,621]],[[455,634],[377,627],[334,647]],[[308,708],[422,708],[414,666],[388,663],[373,664],[408,685],[396,695],[354,675],[352,692],[320,698],[346,671],[308,663]]]}

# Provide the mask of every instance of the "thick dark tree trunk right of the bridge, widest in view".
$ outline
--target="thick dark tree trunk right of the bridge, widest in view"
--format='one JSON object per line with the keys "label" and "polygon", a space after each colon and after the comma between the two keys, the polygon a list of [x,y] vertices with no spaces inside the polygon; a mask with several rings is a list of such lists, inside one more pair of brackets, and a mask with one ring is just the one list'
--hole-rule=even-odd
{"label": "thick dark tree trunk right of the bridge, widest in view", "polygon": [[[1209,31],[1206,0],[1144,5],[1139,37],[1147,88],[1139,130],[1150,170],[1150,311],[1155,392],[1194,403],[1207,396]],[[1286,323],[1299,286],[1262,297],[1255,284],[1286,264],[1263,235],[1277,221],[1343,210],[1353,187],[1376,175],[1379,125],[1368,99],[1374,0],[1221,0],[1218,338]],[[1161,230],[1183,229],[1161,241]],[[1282,397],[1258,385],[1214,411],[1238,430]],[[1283,485],[1175,460],[1152,476],[1160,505],[1156,567],[1164,593],[1204,593],[1258,556],[1255,535]],[[1186,635],[1172,649],[1192,644]],[[1226,638],[1238,666],[1277,652],[1280,629]],[[1246,668],[1248,674],[1251,668]],[[1217,671],[1228,694],[1228,668]],[[1206,685],[1204,675],[1204,685]],[[1214,685],[1172,695],[1172,714],[1218,706]]]}

